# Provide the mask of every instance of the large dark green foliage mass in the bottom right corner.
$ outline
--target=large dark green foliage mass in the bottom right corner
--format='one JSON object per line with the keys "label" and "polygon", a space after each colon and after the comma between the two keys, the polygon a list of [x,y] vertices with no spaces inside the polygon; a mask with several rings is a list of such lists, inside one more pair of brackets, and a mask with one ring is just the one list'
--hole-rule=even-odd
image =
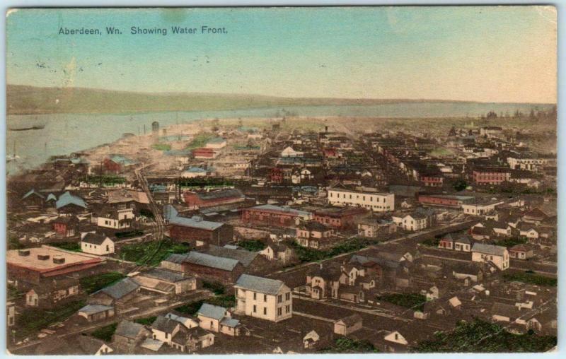
{"label": "large dark green foliage mass in the bottom right corner", "polygon": [[498,324],[475,319],[458,322],[452,331],[440,331],[434,339],[420,341],[411,348],[415,353],[536,353],[556,346],[555,336],[512,334]]}

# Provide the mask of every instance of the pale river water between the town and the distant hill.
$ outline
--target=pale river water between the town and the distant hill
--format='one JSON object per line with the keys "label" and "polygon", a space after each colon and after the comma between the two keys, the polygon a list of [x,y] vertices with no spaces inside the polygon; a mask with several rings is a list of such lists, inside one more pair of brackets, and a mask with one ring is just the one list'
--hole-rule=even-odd
{"label": "pale river water between the town and the distant hill", "polygon": [[[381,105],[291,106],[284,110],[299,116],[357,116],[357,117],[477,117],[490,110],[528,113],[532,107],[548,110],[550,105],[476,103],[476,102],[408,102]],[[122,134],[151,132],[151,123],[161,128],[200,119],[238,117],[265,118],[282,113],[282,108],[267,107],[246,110],[150,112],[136,114],[43,114],[8,116],[7,128],[45,124],[43,129],[7,131],[6,155],[16,154],[18,160],[6,164],[8,174],[45,163],[52,155],[72,152],[111,143]]]}

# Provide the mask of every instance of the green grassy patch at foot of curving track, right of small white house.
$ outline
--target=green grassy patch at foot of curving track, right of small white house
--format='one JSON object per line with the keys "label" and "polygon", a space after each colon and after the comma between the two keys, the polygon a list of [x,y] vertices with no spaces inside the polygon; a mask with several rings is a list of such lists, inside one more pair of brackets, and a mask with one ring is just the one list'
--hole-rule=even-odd
{"label": "green grassy patch at foot of curving track, right of small white house", "polygon": [[173,253],[187,253],[189,247],[173,243],[171,240],[132,243],[120,249],[120,256],[126,261],[134,261],[136,264],[157,266]]}

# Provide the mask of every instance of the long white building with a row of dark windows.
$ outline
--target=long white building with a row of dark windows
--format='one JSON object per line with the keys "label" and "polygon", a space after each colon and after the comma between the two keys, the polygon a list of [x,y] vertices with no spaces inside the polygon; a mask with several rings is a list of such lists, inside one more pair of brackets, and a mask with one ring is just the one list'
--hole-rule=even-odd
{"label": "long white building with a row of dark windows", "polygon": [[395,194],[329,188],[328,204],[331,206],[357,206],[371,209],[374,212],[388,212],[395,209]]}

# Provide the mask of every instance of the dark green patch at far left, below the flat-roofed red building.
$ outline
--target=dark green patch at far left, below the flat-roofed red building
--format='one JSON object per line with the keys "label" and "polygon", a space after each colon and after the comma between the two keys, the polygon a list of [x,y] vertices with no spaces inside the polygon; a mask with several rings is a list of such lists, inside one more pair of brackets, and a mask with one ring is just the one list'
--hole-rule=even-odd
{"label": "dark green patch at far left, below the flat-roofed red building", "polygon": [[25,338],[51,324],[62,322],[71,317],[77,310],[84,307],[84,300],[66,302],[50,310],[40,308],[25,308],[16,315],[16,338]]}

